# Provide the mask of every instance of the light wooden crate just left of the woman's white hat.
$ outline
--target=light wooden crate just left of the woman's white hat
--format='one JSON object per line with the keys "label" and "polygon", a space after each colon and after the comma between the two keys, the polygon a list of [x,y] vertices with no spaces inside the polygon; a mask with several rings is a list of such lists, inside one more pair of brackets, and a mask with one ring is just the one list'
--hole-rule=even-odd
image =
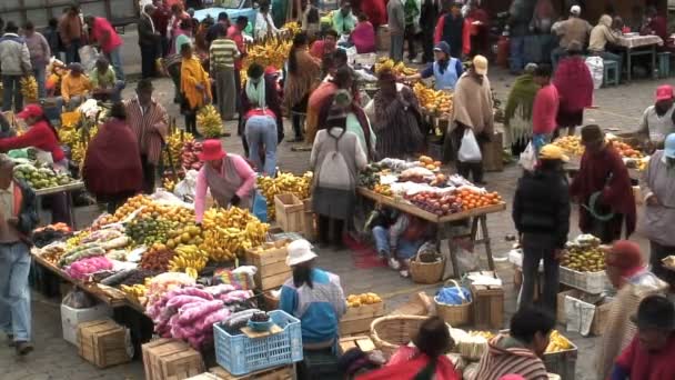
{"label": "light wooden crate just left of the woman's white hat", "polygon": [[255,266],[255,287],[262,291],[280,288],[291,276],[292,271],[286,266],[289,240],[268,242],[262,246],[264,252],[256,250],[246,251],[246,263]]}

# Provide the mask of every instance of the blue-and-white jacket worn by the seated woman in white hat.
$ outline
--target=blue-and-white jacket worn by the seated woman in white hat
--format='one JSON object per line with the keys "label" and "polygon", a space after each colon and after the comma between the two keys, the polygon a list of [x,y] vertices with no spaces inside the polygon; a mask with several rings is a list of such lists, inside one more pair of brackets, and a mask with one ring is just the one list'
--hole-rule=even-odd
{"label": "blue-and-white jacket worn by the seated woman in white hat", "polygon": [[306,283],[295,288],[293,278],[286,280],[279,308],[300,319],[303,343],[323,343],[339,336],[346,303],[336,274],[313,268],[311,278],[312,288]]}

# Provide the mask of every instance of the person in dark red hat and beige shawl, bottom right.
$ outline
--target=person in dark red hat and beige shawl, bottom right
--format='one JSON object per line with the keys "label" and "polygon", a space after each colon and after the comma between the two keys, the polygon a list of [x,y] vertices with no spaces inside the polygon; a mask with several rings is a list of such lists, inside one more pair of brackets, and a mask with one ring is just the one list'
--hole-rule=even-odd
{"label": "person in dark red hat and beige shawl, bottom right", "polygon": [[668,289],[665,282],[647,270],[639,247],[632,241],[615,242],[605,252],[605,263],[607,278],[617,293],[604,323],[605,331],[596,361],[597,379],[609,377],[614,360],[635,336],[635,324],[629,317],[637,311],[639,301]]}

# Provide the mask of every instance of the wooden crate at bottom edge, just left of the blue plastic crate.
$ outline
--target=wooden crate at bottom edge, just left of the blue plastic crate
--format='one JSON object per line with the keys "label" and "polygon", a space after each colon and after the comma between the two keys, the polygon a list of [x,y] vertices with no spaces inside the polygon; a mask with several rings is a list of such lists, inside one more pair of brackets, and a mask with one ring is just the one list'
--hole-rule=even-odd
{"label": "wooden crate at bottom edge, just left of the blue plastic crate", "polygon": [[204,372],[202,356],[178,339],[158,339],[143,344],[147,380],[182,380]]}

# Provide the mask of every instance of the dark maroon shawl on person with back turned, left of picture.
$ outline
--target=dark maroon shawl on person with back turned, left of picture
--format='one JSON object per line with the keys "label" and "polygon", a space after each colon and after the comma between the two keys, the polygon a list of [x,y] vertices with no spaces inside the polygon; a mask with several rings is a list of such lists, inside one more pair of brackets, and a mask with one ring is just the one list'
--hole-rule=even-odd
{"label": "dark maroon shawl on person with back turned, left of picture", "polygon": [[124,121],[110,119],[101,126],[87,148],[82,178],[87,190],[95,196],[142,189],[139,146]]}

